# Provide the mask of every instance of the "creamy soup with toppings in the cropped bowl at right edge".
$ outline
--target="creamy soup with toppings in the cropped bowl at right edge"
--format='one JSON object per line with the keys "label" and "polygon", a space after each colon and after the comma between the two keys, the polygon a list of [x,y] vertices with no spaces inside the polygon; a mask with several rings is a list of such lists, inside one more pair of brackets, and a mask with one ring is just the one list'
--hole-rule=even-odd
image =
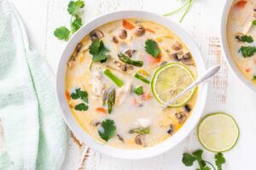
{"label": "creamy soup with toppings in the cropped bowl at right edge", "polygon": [[230,54],[245,77],[256,84],[256,0],[235,0],[227,24]]}

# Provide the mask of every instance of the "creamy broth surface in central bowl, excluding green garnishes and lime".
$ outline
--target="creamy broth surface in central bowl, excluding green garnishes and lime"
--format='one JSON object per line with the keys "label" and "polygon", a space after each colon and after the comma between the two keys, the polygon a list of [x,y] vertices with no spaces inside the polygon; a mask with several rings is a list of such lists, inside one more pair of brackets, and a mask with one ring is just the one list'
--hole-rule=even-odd
{"label": "creamy broth surface in central bowl, excluding green garnishes and lime", "polygon": [[[124,21],[130,25],[124,26]],[[144,32],[141,32],[142,35],[137,32],[139,26],[144,29]],[[172,31],[148,20],[115,20],[96,28],[96,31],[102,33],[103,37],[100,40],[109,50],[107,61],[92,62],[91,64],[92,55],[89,47],[92,43],[92,35],[86,35],[79,42],[67,63],[67,102],[79,125],[97,142],[122,149],[142,149],[172,137],[189,118],[195,105],[197,91],[195,90],[195,94],[187,105],[166,108],[162,111],[161,105],[154,99],[150,84],[138,80],[134,74],[140,72],[150,80],[160,65],[164,65],[166,62],[178,62],[189,67],[194,77],[197,77],[195,61],[189,53],[189,49]],[[124,31],[126,36],[122,34]],[[145,51],[145,42],[148,39],[157,42],[160,48],[160,56],[157,58],[153,58]],[[127,54],[125,52],[128,49],[134,50],[131,59],[143,61],[142,67],[125,65],[119,60],[118,54]],[[180,59],[183,54],[190,54],[191,59],[183,61]],[[104,75],[103,72],[106,69],[124,82],[122,87],[118,87]],[[140,86],[143,87],[143,94],[137,95],[134,93],[134,89]],[[81,99],[71,97],[78,88],[88,93],[89,108],[87,111],[75,109],[76,105],[83,102]],[[102,100],[113,88],[116,98],[113,111],[108,114],[108,105],[104,105]],[[103,140],[98,133],[99,130],[102,130],[102,121],[106,119],[113,120],[116,126],[116,132],[108,142]],[[150,133],[131,133],[131,129],[136,128],[149,128]]]}

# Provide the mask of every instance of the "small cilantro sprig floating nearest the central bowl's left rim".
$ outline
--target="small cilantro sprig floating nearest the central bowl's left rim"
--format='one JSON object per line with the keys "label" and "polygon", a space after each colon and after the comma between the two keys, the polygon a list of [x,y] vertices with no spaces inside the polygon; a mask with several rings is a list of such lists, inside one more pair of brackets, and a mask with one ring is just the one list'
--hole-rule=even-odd
{"label": "small cilantro sprig floating nearest the central bowl's left rim", "polygon": [[71,94],[72,99],[82,99],[83,103],[79,105],[75,105],[74,109],[77,111],[87,111],[89,108],[88,105],[88,93],[86,91],[81,90],[81,88],[77,88],[74,93]]}

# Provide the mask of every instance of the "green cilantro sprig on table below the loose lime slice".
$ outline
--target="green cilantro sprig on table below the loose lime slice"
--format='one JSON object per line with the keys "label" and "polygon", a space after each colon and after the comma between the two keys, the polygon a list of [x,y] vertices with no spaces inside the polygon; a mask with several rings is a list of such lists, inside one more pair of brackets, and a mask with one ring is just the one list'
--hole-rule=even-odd
{"label": "green cilantro sprig on table below the loose lime slice", "polygon": [[[190,153],[183,153],[183,164],[187,167],[191,167],[195,161],[197,161],[199,168],[196,170],[211,170],[211,167],[214,170],[222,170],[222,165],[225,163],[225,158],[222,153],[217,153],[214,156],[215,159],[215,165],[214,167],[211,162],[206,161],[202,158],[203,150],[195,150]],[[210,165],[210,167],[208,166]]]}

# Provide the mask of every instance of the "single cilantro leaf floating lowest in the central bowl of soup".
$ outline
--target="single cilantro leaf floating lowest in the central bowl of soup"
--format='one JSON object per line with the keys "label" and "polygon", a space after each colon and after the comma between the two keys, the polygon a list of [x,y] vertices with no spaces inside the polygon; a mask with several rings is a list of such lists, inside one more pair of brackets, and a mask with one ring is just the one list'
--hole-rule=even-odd
{"label": "single cilantro leaf floating lowest in the central bowl of soup", "polygon": [[102,122],[102,129],[98,130],[98,133],[103,140],[106,140],[108,142],[108,140],[113,137],[115,130],[116,127],[113,120],[105,119]]}

